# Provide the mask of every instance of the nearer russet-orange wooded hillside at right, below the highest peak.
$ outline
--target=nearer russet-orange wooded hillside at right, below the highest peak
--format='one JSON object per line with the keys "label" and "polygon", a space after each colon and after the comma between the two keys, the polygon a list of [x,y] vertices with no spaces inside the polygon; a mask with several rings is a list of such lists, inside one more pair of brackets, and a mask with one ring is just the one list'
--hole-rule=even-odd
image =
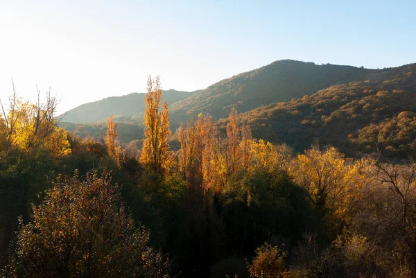
{"label": "nearer russet-orange wooded hillside at right, below the highest peak", "polygon": [[239,119],[252,126],[254,137],[286,142],[298,151],[319,141],[351,156],[377,148],[386,157],[416,155],[416,64],[368,77],[258,107]]}

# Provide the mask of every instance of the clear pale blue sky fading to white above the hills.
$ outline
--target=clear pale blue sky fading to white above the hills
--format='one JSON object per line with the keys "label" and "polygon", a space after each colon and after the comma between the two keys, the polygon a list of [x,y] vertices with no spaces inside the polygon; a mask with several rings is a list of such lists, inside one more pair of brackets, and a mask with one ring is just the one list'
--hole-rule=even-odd
{"label": "clear pale blue sky fading to white above the hills", "polygon": [[275,60],[416,62],[416,1],[0,0],[0,98],[12,82],[58,113],[108,96],[193,91]]}

